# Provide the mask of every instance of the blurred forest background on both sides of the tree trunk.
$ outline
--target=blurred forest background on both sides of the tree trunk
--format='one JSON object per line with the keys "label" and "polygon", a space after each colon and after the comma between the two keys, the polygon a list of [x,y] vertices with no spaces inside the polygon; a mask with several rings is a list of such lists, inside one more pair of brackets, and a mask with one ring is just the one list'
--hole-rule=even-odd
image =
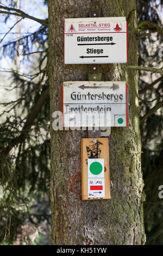
{"label": "blurred forest background on both sides of the tree trunk", "polygon": [[[162,69],[162,29],[154,32],[141,22],[151,21],[162,27],[163,1],[136,2],[139,65]],[[0,244],[48,245],[47,1],[0,1],[0,17]],[[163,185],[162,89],[161,74],[139,71],[147,245],[163,245],[163,199],[158,197],[158,188]]]}

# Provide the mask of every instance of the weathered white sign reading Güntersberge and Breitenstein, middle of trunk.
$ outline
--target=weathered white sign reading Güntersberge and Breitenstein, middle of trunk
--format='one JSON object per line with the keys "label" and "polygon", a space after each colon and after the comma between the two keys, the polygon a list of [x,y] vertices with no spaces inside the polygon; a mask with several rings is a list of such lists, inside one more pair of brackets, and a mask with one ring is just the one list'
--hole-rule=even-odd
{"label": "weathered white sign reading G\u00fcntersberge and Breitenstein, middle of trunk", "polygon": [[61,109],[64,127],[128,126],[128,86],[117,81],[64,82]]}

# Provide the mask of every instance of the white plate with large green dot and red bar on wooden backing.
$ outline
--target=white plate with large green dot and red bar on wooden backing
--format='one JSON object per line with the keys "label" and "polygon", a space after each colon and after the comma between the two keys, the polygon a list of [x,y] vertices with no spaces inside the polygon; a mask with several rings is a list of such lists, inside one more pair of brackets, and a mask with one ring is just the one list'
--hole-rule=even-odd
{"label": "white plate with large green dot and red bar on wooden backing", "polygon": [[88,198],[105,197],[104,159],[88,159]]}

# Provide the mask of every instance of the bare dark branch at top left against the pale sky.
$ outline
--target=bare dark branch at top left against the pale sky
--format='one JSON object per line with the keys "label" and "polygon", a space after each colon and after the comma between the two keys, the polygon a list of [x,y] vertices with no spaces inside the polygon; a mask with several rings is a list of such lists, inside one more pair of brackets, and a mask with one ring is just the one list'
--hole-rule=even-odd
{"label": "bare dark branch at top left against the pale sky", "polygon": [[[15,9],[15,8],[4,7],[3,5],[0,5],[0,9],[8,10],[8,11],[0,10],[0,13],[2,13],[2,14],[9,14],[9,15],[20,16],[23,19],[27,18],[27,19],[30,19],[30,20],[34,20],[34,21],[39,22],[41,25],[48,27],[48,19],[46,19],[46,20],[37,19],[37,18],[35,18],[33,16],[30,16],[30,15],[24,13],[24,11],[21,11],[19,9]],[[11,13],[10,11],[15,11],[15,13]]]}

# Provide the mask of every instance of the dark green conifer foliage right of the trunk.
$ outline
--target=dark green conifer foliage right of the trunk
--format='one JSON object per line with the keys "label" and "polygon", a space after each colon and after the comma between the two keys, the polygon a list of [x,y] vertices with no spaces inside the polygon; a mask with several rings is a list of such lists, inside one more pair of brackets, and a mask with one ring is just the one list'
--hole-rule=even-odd
{"label": "dark green conifer foliage right of the trunk", "polygon": [[[144,21],[157,23],[161,27],[160,10],[163,1],[138,1],[137,16],[141,24]],[[148,24],[153,24],[147,22]],[[148,32],[148,31],[147,31]],[[144,32],[143,32],[144,33]],[[160,65],[162,57],[159,56],[159,45],[161,44],[161,34],[155,33],[147,38],[140,39],[139,46],[139,65],[157,66]],[[155,47],[156,46],[156,47]],[[160,80],[150,89],[141,93],[141,90],[152,84],[158,76],[145,72],[139,72],[140,108],[142,116],[148,113],[149,109],[157,105],[163,96],[163,80]],[[159,186],[163,184],[162,173],[162,153],[163,143],[161,141],[163,129],[162,109],[150,115],[141,124],[142,138],[142,171],[145,181],[144,191],[146,201],[144,203],[145,232],[147,235],[147,245],[163,244],[163,225],[162,225],[162,199],[158,197]]]}

